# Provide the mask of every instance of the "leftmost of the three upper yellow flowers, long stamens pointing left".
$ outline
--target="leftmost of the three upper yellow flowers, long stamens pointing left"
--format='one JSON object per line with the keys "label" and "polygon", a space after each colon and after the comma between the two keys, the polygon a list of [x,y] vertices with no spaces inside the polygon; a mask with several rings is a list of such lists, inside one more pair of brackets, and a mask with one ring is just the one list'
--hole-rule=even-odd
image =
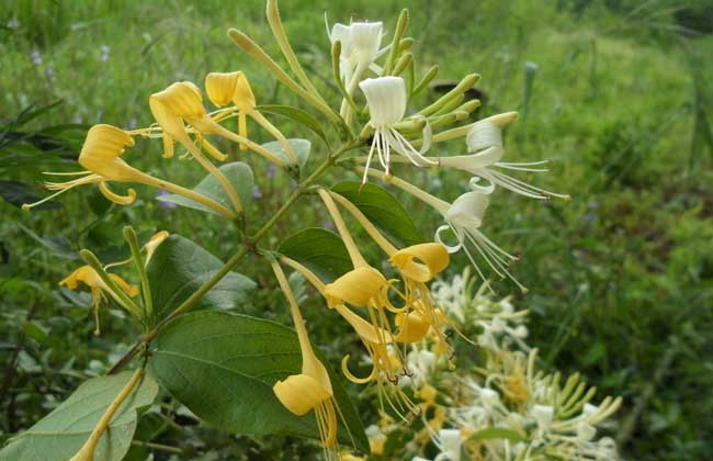
{"label": "leftmost of the three upper yellow flowers, long stamens pointing left", "polygon": [[92,126],[89,128],[89,132],[87,132],[87,138],[84,139],[78,159],[79,164],[87,168],[88,171],[46,173],[55,176],[81,176],[81,178],[66,182],[45,182],[47,189],[57,192],[38,202],[22,205],[23,210],[30,210],[33,206],[47,202],[72,188],[86,184],[99,184],[99,190],[102,194],[114,203],[127,205],[134,202],[136,199],[136,191],[134,189],[128,190],[128,195],[118,195],[109,189],[106,183],[109,181],[115,181],[136,182],[167,190],[210,206],[226,217],[235,217],[235,214],[230,210],[220,205],[213,199],[196,193],[190,189],[173,184],[172,182],[147,175],[128,165],[121,157],[124,155],[125,148],[132,146],[134,146],[134,138],[127,132],[106,124]]}

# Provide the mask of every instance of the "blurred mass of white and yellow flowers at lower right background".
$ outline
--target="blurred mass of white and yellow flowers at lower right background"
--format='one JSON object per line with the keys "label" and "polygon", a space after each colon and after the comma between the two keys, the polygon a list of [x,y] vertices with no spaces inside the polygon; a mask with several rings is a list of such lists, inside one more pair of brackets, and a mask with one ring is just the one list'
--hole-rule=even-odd
{"label": "blurred mass of white and yellow flowers at lower right background", "polygon": [[[597,438],[597,427],[606,426],[621,397],[592,404],[596,390],[579,374],[563,379],[540,370],[536,349],[525,342],[527,311],[516,311],[507,297],[493,300],[483,285],[474,292],[467,270],[437,281],[433,293],[452,327],[477,330],[480,357],[454,374],[433,352],[437,341],[412,344],[411,374],[403,385],[418,397],[421,418],[405,428],[383,414],[367,429],[373,454],[414,461],[619,459],[613,439]],[[389,438],[407,442],[387,452]]]}

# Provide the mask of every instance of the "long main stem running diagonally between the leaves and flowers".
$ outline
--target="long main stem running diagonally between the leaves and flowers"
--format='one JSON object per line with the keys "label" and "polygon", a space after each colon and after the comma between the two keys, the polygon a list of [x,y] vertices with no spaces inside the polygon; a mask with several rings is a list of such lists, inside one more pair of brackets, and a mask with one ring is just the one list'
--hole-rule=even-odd
{"label": "long main stem running diagonally between the leaves and flowers", "polygon": [[363,139],[363,138],[356,138],[356,139],[353,139],[352,142],[350,142],[350,143],[343,145],[342,147],[340,147],[337,151],[335,151],[333,154],[331,154],[331,155],[330,155],[330,156],[329,156],[325,161],[322,161],[322,162],[319,165],[319,167],[317,167],[317,169],[316,169],[316,170],[315,170],[315,171],[314,171],[314,172],[313,172],[313,173],[312,173],[312,175],[310,175],[310,176],[309,176],[309,177],[308,177],[308,178],[307,178],[307,179],[306,179],[302,184],[299,184],[299,187],[297,188],[297,190],[295,190],[295,191],[292,193],[292,195],[290,195],[290,198],[285,201],[285,203],[283,203],[283,205],[280,207],[280,210],[278,210],[278,212],[274,214],[274,216],[272,216],[272,217],[271,217],[271,218],[270,218],[270,220],[269,220],[269,221],[268,221],[268,222],[267,222],[267,223],[265,223],[265,224],[260,228],[260,231],[258,231],[254,235],[252,235],[251,237],[249,237],[249,238],[247,239],[247,241],[246,241],[246,246],[245,246],[245,247],[240,248],[240,249],[239,249],[239,250],[238,250],[238,251],[237,251],[237,252],[236,252],[236,254],[235,254],[235,255],[234,255],[234,256],[233,256],[233,257],[231,257],[231,258],[230,258],[230,259],[229,259],[229,260],[228,260],[228,261],[227,261],[227,262],[226,262],[222,268],[220,268],[220,270],[218,270],[215,274],[213,274],[213,277],[211,277],[211,279],[206,280],[205,283],[203,283],[203,284],[201,285],[201,288],[199,288],[197,291],[195,291],[191,296],[189,296],[189,299],[186,299],[185,301],[183,301],[183,302],[181,303],[181,305],[179,305],[178,307],[176,307],[176,310],[173,310],[173,312],[171,312],[171,313],[170,313],[166,318],[163,318],[162,321],[160,321],[159,323],[157,323],[156,326],[154,326],[154,328],[151,328],[150,331],[148,331],[146,335],[142,336],[142,337],[140,337],[140,338],[139,338],[139,339],[134,344],[134,346],[133,346],[133,347],[132,347],[132,348],[131,348],[126,353],[124,353],[124,356],[122,356],[121,359],[118,359],[118,361],[116,362],[116,364],[115,364],[114,367],[112,367],[112,369],[109,371],[109,374],[115,374],[115,373],[118,373],[121,370],[123,370],[124,367],[126,367],[126,364],[128,364],[128,363],[132,361],[132,359],[133,359],[133,358],[134,358],[134,357],[135,357],[135,356],[136,356],[140,350],[145,349],[145,348],[146,348],[146,347],[147,347],[147,346],[148,346],[148,345],[149,345],[154,339],[156,339],[156,337],[158,336],[158,334],[161,331],[161,329],[163,329],[163,327],[166,327],[166,325],[168,325],[168,324],[169,324],[171,321],[173,321],[176,317],[178,317],[179,315],[183,314],[185,311],[188,311],[189,308],[191,308],[191,307],[193,306],[193,304],[195,304],[195,303],[196,303],[201,297],[203,297],[203,295],[205,295],[205,293],[207,293],[208,291],[211,291],[211,289],[213,289],[213,286],[215,286],[215,285],[216,285],[220,280],[223,280],[223,278],[224,278],[225,276],[227,276],[228,272],[230,272],[230,270],[231,270],[231,269],[233,269],[233,268],[234,268],[238,262],[240,262],[240,261],[242,260],[242,258],[246,257],[246,255],[248,254],[248,251],[251,250],[252,248],[254,248],[256,244],[257,244],[258,241],[260,241],[260,240],[261,240],[261,239],[262,239],[262,238],[263,238],[263,237],[264,237],[264,236],[270,232],[270,229],[272,229],[272,227],[274,227],[274,225],[278,224],[278,222],[279,222],[280,220],[282,220],[282,217],[284,217],[284,215],[287,213],[287,211],[290,211],[290,209],[292,207],[292,205],[294,205],[295,202],[297,202],[297,200],[298,200],[298,199],[299,199],[299,198],[301,198],[301,196],[302,196],[302,195],[307,191],[307,189],[308,189],[312,184],[314,184],[314,183],[317,181],[317,179],[319,179],[319,178],[321,177],[321,175],[322,175],[322,173],[324,173],[324,172],[325,172],[329,167],[331,167],[332,165],[335,165],[335,162],[337,161],[337,159],[338,159],[341,155],[348,153],[348,151],[351,150],[351,149],[354,149],[354,148],[359,147],[359,146],[360,146],[361,144],[363,144],[363,143],[364,143],[364,139]]}

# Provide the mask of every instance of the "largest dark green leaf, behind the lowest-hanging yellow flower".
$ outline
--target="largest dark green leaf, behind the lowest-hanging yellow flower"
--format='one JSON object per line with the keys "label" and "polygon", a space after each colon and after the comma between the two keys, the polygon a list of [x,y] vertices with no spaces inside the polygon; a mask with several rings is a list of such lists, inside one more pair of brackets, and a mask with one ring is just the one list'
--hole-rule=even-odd
{"label": "largest dark green leaf, behind the lowest-hanging yellow flower", "polygon": [[[158,336],[150,368],[161,385],[206,423],[237,434],[318,438],[314,412],[290,413],[272,392],[278,380],[299,373],[295,331],[262,318],[226,312],[193,312]],[[328,367],[329,369],[329,367]],[[330,371],[344,417],[339,440],[369,452],[369,440],[340,379]]]}

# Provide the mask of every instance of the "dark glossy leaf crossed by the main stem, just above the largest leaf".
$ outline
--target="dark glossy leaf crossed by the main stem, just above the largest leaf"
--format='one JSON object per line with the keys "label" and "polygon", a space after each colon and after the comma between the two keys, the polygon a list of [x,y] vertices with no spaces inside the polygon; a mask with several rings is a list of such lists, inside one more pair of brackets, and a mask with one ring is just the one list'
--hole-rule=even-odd
{"label": "dark glossy leaf crossed by the main stem, just above the largest leaf", "polygon": [[[168,237],[148,261],[154,314],[160,318],[178,307],[224,266],[215,256],[180,235]],[[248,301],[256,283],[228,272],[193,308],[235,308]]]}

